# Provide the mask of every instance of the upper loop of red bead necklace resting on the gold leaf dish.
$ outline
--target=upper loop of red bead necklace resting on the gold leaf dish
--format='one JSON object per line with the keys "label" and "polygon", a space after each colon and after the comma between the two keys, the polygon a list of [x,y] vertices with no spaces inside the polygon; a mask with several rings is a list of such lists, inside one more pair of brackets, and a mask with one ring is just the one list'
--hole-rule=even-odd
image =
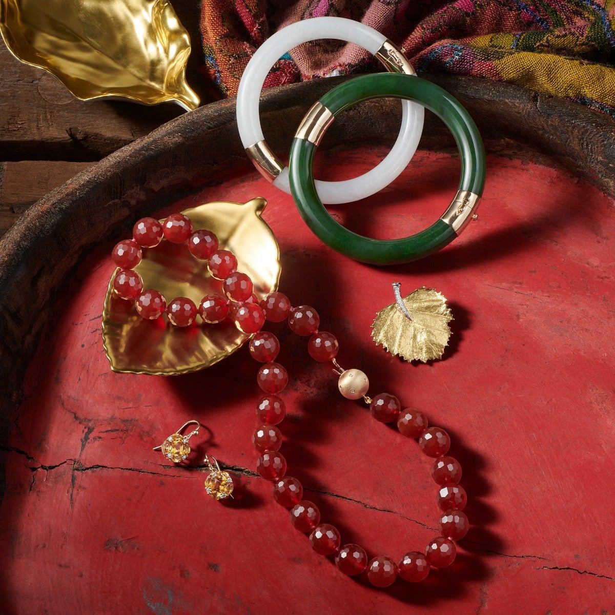
{"label": "upper loop of red bead necklace resting on the gold leaf dish", "polygon": [[[188,244],[195,258],[207,261],[211,276],[223,282],[224,296],[218,293],[205,295],[197,307],[188,297],[176,297],[170,303],[154,288],[143,290],[143,280],[133,269],[141,262],[141,248],[154,248],[163,239],[173,244]],[[183,213],[172,213],[159,222],[155,218],[141,218],[132,229],[132,239],[118,242],[111,257],[119,267],[113,279],[113,292],[127,301],[134,301],[137,313],[156,320],[167,314],[175,327],[188,327],[197,314],[203,322],[215,324],[232,317],[237,328],[244,333],[256,333],[263,327],[263,308],[253,295],[250,277],[237,271],[237,258],[229,250],[218,249],[218,237],[212,231],[194,231],[192,222]],[[290,307],[290,305],[289,305]]]}

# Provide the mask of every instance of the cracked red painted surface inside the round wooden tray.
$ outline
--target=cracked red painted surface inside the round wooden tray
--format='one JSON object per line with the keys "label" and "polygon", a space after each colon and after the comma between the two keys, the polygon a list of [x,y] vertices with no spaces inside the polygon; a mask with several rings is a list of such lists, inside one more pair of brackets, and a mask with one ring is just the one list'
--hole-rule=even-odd
{"label": "cracked red painted surface inside the round wooden tray", "polygon": [[[349,177],[381,154],[331,154],[320,175]],[[355,231],[410,234],[442,213],[457,173],[456,159],[423,153],[395,189],[335,213]],[[112,373],[100,320],[113,237],[66,287],[15,412],[2,613],[615,613],[613,201],[564,172],[492,158],[478,221],[432,258],[387,269],[324,247],[256,173],[173,209],[257,195],[280,244],[280,289],[319,310],[341,365],[453,437],[474,524],[457,560],[423,584],[376,590],[315,555],[260,478],[237,472],[225,505],[205,494],[204,472],[168,467],[153,446],[196,418],[210,437],[193,438],[189,461],[208,451],[255,469],[257,365],[244,347],[192,375]],[[445,360],[410,365],[371,342],[397,280],[403,294],[427,285],[449,298]],[[342,399],[305,339],[269,328],[290,373],[289,474],[344,542],[394,558],[423,550],[437,534],[431,460]]]}

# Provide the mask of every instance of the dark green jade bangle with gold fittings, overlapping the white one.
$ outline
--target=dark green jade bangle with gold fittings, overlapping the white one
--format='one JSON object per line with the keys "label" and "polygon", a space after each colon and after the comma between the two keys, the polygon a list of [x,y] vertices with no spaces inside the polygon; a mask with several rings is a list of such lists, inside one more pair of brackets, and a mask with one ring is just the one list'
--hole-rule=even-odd
{"label": "dark green jade bangle with gold fittings, overlapping the white one", "polygon": [[[349,231],[331,218],[314,186],[314,154],[328,126],[338,113],[370,98],[405,98],[426,106],[451,130],[461,155],[459,190],[450,207],[435,224],[403,239],[370,239]],[[446,90],[419,77],[370,74],[338,85],[312,106],[295,133],[288,169],[297,208],[325,244],[363,263],[409,263],[450,244],[472,219],[485,187],[485,148],[472,117]]]}

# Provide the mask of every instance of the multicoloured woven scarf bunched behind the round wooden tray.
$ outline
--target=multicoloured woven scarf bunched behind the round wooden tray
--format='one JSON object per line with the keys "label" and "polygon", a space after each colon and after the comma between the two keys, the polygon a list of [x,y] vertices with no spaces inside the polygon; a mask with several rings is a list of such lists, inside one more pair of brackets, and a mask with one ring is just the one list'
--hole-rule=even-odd
{"label": "multicoloured woven scarf bunched behind the round wooden tray", "polygon": [[[506,81],[615,116],[615,0],[202,0],[204,73],[217,95],[236,95],[271,34],[322,15],[386,34],[419,73]],[[265,87],[373,69],[359,47],[317,41],[280,58]]]}

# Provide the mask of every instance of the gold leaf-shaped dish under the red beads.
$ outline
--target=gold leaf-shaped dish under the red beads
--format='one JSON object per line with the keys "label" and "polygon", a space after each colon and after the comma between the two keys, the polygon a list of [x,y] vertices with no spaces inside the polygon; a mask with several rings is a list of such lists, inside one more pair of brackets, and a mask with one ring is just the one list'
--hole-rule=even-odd
{"label": "gold leaf-shaped dish under the red beads", "polygon": [[[261,218],[264,199],[247,203],[216,201],[184,213],[194,229],[215,232],[220,248],[237,257],[237,269],[252,278],[257,296],[277,289],[280,255],[276,237]],[[117,271],[117,269],[115,270]],[[111,290],[103,309],[103,344],[111,369],[132,374],[173,375],[202,370],[235,352],[250,338],[230,319],[217,325],[202,323],[173,327],[166,318],[145,320],[137,314],[133,301],[119,299]],[[143,278],[143,288],[156,288],[171,301],[185,296],[197,305],[204,295],[221,292],[222,283],[207,271],[186,244],[162,241],[143,249],[143,260],[135,267]]]}

